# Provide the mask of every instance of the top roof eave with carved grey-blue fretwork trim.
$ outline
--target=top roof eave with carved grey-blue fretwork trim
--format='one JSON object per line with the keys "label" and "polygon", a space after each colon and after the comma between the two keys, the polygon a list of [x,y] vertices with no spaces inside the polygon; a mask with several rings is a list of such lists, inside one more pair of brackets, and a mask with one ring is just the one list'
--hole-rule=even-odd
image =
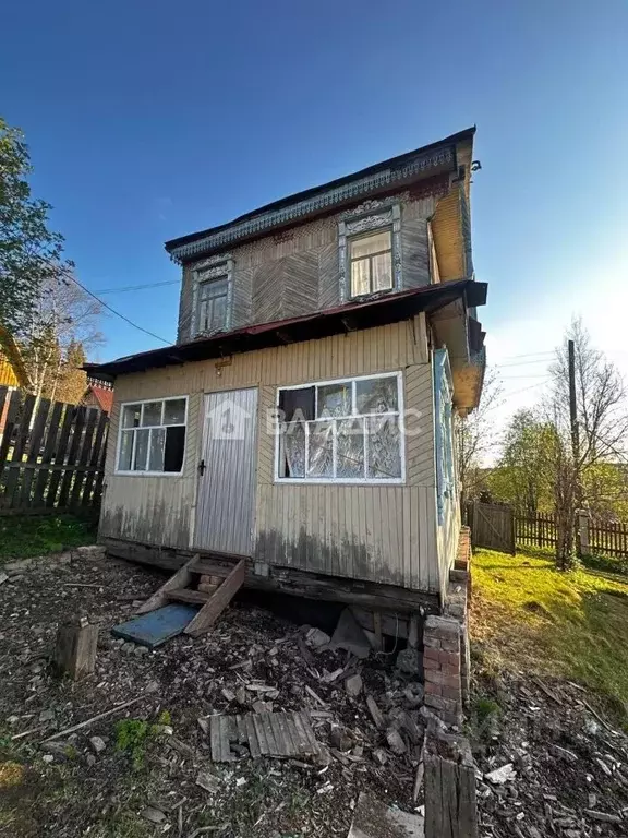
{"label": "top roof eave with carved grey-blue fretwork trim", "polygon": [[455,172],[458,167],[456,148],[459,143],[472,141],[474,133],[474,127],[468,128],[328,183],[273,201],[227,224],[170,239],[166,242],[166,250],[173,259],[185,262],[237,241],[264,236],[315,215],[334,212],[343,204],[369,195],[399,189],[420,178]]}

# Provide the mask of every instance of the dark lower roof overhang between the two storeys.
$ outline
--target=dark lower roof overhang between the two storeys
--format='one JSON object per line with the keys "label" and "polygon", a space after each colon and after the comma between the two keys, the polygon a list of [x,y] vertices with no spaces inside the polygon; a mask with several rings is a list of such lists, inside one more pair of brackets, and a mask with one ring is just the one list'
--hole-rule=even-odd
{"label": "dark lower roof overhang between the two storeys", "polygon": [[467,308],[483,306],[486,301],[486,283],[472,279],[427,285],[290,320],[244,326],[212,337],[198,338],[189,344],[130,355],[107,363],[88,363],[83,369],[94,378],[113,381],[117,375],[224,358],[302,340],[315,340],[361,328],[398,323],[420,312],[437,311],[455,300],[463,300]]}

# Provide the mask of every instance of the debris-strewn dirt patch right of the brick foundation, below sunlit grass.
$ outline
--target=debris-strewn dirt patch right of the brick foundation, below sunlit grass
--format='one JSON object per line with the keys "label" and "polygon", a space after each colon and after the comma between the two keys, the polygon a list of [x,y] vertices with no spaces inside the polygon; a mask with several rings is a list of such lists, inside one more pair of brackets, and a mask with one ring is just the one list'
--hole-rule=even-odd
{"label": "debris-strewn dirt patch right of the brick foundation, below sunlit grass", "polygon": [[[482,836],[628,835],[628,738],[592,701],[558,679],[476,680],[469,733]],[[509,779],[491,782],[486,775],[504,766]]]}

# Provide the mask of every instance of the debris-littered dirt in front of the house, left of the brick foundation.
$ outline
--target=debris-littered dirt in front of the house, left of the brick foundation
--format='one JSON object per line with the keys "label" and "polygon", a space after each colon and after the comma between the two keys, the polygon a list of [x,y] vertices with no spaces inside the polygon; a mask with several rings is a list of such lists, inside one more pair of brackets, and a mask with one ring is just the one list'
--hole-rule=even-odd
{"label": "debris-littered dirt in front of the house, left of the brick foundation", "polygon": [[[395,674],[392,657],[363,662],[319,650],[303,627],[250,604],[229,608],[198,639],[180,636],[148,653],[121,645],[110,630],[160,584],[157,573],[89,551],[8,570],[0,586],[0,835],[345,836],[361,791],[407,811],[416,805],[420,745],[402,730],[404,753],[394,754],[365,703],[375,697],[385,727],[397,720],[400,729],[399,719],[411,717],[421,732],[422,689]],[[100,628],[96,672],[59,681],[49,665],[57,625],[81,614]],[[352,697],[345,681],[355,672],[363,690]],[[136,697],[126,710],[41,744]],[[214,764],[207,717],[251,713],[259,701],[276,711],[309,709],[322,754]]]}

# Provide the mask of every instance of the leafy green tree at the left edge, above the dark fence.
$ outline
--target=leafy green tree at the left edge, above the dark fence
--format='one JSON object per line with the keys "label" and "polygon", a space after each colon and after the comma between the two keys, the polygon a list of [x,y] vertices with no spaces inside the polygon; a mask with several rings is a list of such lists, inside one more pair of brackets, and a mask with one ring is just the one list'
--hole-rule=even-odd
{"label": "leafy green tree at the left edge, above the dark fence", "polygon": [[0,117],[0,322],[19,337],[43,285],[67,271],[63,237],[48,228],[50,204],[34,199],[28,146]]}

